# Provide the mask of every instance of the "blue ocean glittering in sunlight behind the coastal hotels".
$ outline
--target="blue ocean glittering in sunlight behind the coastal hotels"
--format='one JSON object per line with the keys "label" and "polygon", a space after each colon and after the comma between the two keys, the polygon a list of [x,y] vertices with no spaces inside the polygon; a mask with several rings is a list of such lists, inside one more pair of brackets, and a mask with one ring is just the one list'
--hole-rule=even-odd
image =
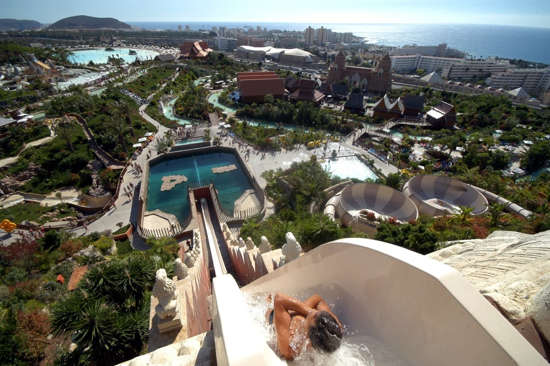
{"label": "blue ocean glittering in sunlight behind the coastal hotels", "polygon": [[550,64],[550,28],[531,28],[509,25],[483,24],[315,24],[315,23],[245,23],[236,21],[173,21],[146,22],[125,21],[145,29],[178,30],[227,28],[256,28],[268,30],[298,30],[311,28],[330,29],[333,32],[353,32],[368,43],[385,46],[421,45],[434,46],[447,43],[447,47],[465,51],[474,57],[496,56],[524,59],[530,62]]}

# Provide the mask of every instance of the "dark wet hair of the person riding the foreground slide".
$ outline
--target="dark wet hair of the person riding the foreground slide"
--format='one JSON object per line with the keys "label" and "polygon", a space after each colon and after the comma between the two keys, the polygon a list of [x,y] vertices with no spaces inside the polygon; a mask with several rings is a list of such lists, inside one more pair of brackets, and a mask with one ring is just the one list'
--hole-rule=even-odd
{"label": "dark wet hair of the person riding the foreground slide", "polygon": [[321,310],[313,315],[308,330],[311,346],[323,352],[334,352],[340,347],[342,329],[331,313]]}

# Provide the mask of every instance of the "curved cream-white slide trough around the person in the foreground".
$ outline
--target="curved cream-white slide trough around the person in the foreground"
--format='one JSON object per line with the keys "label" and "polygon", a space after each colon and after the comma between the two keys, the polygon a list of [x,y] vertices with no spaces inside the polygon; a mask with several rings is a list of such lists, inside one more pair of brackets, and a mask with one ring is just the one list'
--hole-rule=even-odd
{"label": "curved cream-white slide trough around the person in the foreground", "polygon": [[372,336],[411,366],[547,365],[456,270],[362,238],[321,245],[241,289],[230,275],[214,278],[218,365],[282,363],[244,299],[275,292],[321,294],[352,334],[346,337]]}

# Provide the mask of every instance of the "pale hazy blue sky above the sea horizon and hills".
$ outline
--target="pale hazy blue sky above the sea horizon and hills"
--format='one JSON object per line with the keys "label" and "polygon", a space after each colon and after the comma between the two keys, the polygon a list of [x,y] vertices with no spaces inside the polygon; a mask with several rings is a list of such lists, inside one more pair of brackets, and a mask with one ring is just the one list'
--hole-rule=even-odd
{"label": "pale hazy blue sky above the sea horizon and hills", "polygon": [[466,23],[550,28],[548,0],[0,0],[1,18],[43,24],[74,15],[120,21]]}

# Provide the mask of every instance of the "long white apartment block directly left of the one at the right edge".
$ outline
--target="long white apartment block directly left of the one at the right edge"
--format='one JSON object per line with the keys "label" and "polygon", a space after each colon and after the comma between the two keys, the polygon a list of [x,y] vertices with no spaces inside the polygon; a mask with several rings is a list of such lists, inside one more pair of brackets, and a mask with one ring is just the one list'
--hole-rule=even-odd
{"label": "long white apartment block directly left of the one at the right edge", "polygon": [[454,60],[443,68],[442,76],[455,81],[461,80],[485,80],[492,74],[503,73],[508,69],[514,69],[507,60],[497,61],[494,57],[485,60]]}

